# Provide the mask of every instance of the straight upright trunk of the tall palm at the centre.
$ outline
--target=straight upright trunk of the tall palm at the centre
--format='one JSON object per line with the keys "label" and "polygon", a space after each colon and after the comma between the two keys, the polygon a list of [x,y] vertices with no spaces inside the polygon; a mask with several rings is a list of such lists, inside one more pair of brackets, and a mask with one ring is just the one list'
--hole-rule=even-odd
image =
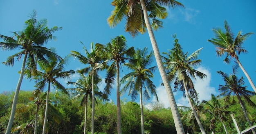
{"label": "straight upright trunk of the tall palm at the centre", "polygon": [[119,61],[117,63],[117,134],[122,134],[121,130],[121,102],[120,102],[120,80],[119,80]]}

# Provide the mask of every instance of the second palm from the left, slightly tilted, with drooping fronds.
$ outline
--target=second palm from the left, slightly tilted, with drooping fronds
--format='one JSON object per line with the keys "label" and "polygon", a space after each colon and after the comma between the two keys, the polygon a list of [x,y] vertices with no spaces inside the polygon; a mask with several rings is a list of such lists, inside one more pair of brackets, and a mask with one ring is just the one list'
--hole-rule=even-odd
{"label": "second palm from the left, slightly tilted, with drooping fronds", "polygon": [[[51,48],[51,49],[52,49],[52,52],[56,54],[56,50],[54,48]],[[58,82],[58,79],[70,78],[70,76],[75,73],[74,70],[64,71],[65,65],[68,62],[68,57],[65,57],[64,59],[62,59],[62,58],[56,58],[55,55],[52,55],[52,56],[49,56],[47,59],[48,59],[48,62],[38,63],[42,71],[37,70],[36,76],[34,77],[36,79],[36,85],[35,85],[36,88],[43,91],[43,89],[47,86],[43,134],[45,134],[46,127],[47,127],[47,115],[48,115],[48,109],[49,109],[49,92],[50,92],[51,84],[55,86],[56,89],[61,90],[63,93],[67,93],[67,91],[65,90],[65,87]]]}

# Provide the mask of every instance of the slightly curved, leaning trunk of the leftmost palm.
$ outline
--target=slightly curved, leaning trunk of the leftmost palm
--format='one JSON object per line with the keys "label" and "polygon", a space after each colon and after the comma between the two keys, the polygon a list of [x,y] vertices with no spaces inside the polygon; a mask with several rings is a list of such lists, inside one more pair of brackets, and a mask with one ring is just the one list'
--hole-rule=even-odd
{"label": "slightly curved, leaning trunk of the leftmost palm", "polygon": [[22,82],[22,79],[23,79],[23,76],[24,76],[27,54],[28,54],[28,52],[26,51],[23,62],[22,62],[21,70],[20,70],[20,78],[18,80],[18,84],[16,86],[16,90],[15,90],[15,93],[14,93],[13,102],[12,102],[12,105],[11,105],[11,115],[10,115],[10,119],[9,119],[9,122],[8,122],[8,125],[7,125],[7,128],[6,128],[5,134],[10,134],[10,132],[11,132],[11,127],[12,127],[12,124],[13,124],[15,111],[16,111],[16,106],[17,106],[17,101],[18,101],[18,95],[19,95],[19,92],[20,92],[20,86],[21,86],[21,82]]}

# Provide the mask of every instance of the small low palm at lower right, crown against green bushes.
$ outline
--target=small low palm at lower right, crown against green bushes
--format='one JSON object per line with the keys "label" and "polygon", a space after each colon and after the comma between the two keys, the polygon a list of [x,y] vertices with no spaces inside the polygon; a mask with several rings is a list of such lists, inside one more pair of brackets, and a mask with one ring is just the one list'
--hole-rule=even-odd
{"label": "small low palm at lower right, crown against green bushes", "polygon": [[216,122],[216,120],[220,119],[220,122],[222,123],[223,128],[227,134],[227,128],[226,128],[223,120],[225,119],[225,115],[230,113],[230,111],[227,110],[228,105],[222,106],[220,104],[220,101],[213,94],[211,94],[210,101],[203,100],[202,103],[206,104],[207,111],[209,111],[209,113],[211,115],[213,115],[213,117],[211,119],[210,129],[213,129],[213,126],[214,126],[214,123]]}

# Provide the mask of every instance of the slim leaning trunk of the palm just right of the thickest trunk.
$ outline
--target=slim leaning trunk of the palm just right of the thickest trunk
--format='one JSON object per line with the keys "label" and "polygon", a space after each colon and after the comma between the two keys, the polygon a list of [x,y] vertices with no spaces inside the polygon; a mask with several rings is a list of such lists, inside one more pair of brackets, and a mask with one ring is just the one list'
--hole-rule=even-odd
{"label": "slim leaning trunk of the palm just right of the thickest trunk", "polygon": [[202,125],[202,123],[201,123],[201,121],[200,121],[200,119],[199,119],[199,117],[198,117],[198,114],[196,113],[195,108],[194,108],[194,106],[193,106],[193,104],[192,104],[192,102],[191,102],[191,97],[190,97],[189,91],[188,91],[188,89],[187,89],[187,87],[186,87],[185,80],[183,79],[182,81],[183,81],[183,84],[184,84],[184,89],[185,89],[185,92],[186,92],[186,96],[187,96],[188,99],[189,99],[189,105],[190,105],[191,110],[192,110],[192,112],[193,112],[193,114],[194,114],[194,116],[195,116],[195,119],[196,119],[196,121],[197,121],[197,123],[198,123],[198,125],[199,125],[199,128],[200,128],[202,134],[206,134],[206,132],[204,131],[204,127],[203,127],[203,125]]}

